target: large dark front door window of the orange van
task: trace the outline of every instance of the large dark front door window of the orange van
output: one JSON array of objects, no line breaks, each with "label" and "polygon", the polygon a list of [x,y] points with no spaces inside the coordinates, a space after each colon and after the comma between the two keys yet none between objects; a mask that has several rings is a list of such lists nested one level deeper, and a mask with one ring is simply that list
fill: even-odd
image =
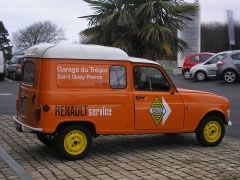
[{"label": "large dark front door window of the orange van", "polygon": [[170,85],[159,69],[138,66],[134,68],[134,88],[144,91],[168,91]]}]

